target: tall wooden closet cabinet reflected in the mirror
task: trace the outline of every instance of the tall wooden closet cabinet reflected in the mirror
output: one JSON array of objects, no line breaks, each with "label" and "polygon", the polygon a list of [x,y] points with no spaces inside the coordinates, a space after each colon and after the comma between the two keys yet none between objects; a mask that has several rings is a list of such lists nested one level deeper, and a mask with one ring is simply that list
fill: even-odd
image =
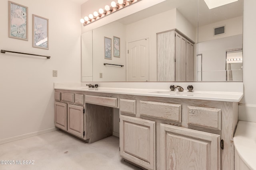
[{"label": "tall wooden closet cabinet reflected in the mirror", "polygon": [[157,80],[195,81],[194,44],[176,30],[157,33]]}]

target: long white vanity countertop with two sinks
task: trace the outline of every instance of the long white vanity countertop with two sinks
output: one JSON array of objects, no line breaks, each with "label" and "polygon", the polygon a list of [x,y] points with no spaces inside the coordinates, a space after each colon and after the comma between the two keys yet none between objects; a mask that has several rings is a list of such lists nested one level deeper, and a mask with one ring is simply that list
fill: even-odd
[{"label": "long white vanity countertop with two sinks", "polygon": [[164,98],[184,98],[184,99],[198,99],[198,100],[213,100],[223,102],[240,102],[243,97],[241,92],[209,92],[209,91],[194,91],[188,92],[170,92],[170,90],[156,90],[156,89],[136,89],[136,88],[88,88],[84,86],[54,86],[54,89],[60,90],[76,90],[85,92],[101,92],[113,94],[130,94],[138,96],[153,96]]}]

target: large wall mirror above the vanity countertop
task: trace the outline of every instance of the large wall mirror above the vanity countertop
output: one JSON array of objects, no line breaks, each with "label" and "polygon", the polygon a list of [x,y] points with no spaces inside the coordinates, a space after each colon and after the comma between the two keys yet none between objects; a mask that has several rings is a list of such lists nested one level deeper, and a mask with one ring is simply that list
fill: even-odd
[{"label": "large wall mirror above the vanity countertop", "polygon": [[243,2],[206,2],[165,0],[83,33],[82,82],[241,82]]}]

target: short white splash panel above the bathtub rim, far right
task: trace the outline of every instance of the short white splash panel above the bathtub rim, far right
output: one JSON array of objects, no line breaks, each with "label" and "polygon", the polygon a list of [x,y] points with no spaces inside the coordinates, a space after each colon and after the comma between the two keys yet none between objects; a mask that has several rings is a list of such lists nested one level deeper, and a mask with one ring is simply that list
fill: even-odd
[{"label": "short white splash panel above the bathtub rim, far right", "polygon": [[256,122],[256,105],[239,104],[239,120]]}]

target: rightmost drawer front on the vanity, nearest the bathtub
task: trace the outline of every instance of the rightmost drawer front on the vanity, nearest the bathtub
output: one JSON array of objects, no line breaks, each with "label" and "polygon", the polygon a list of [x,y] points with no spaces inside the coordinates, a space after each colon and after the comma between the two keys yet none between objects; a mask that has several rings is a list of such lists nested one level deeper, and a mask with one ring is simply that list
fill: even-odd
[{"label": "rightmost drawer front on the vanity, nearest the bathtub", "polygon": [[221,130],[221,110],[188,106],[188,124]]}]

